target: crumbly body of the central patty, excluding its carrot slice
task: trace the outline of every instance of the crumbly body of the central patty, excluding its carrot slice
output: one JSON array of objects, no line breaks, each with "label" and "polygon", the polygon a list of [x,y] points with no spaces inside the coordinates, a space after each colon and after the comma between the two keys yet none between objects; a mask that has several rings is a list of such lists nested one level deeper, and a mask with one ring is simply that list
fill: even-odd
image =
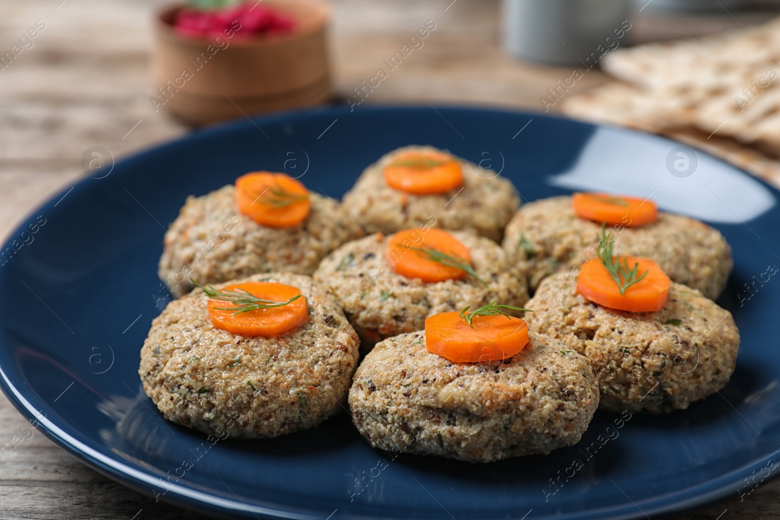
[{"label": "crumbly body of the central patty, excluding its carrot slice", "polygon": [[[322,260],[314,280],[331,288],[364,349],[383,338],[423,329],[425,318],[435,313],[468,305],[476,309],[493,300],[523,306],[528,299],[525,277],[509,266],[501,247],[473,232],[452,235],[469,249],[473,269],[488,287],[471,276],[424,283],[396,274],[385,256],[388,237],[380,233],[336,249]],[[420,236],[424,244],[424,232],[420,231]]]}]

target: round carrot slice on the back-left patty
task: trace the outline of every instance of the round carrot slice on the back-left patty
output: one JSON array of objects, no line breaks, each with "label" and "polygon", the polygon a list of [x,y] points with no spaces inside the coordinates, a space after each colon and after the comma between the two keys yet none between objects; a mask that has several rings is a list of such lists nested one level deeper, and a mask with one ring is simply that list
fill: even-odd
[{"label": "round carrot slice on the back-left patty", "polygon": [[309,216],[309,190],[282,173],[252,172],[236,179],[239,211],[269,228],[290,228]]}]

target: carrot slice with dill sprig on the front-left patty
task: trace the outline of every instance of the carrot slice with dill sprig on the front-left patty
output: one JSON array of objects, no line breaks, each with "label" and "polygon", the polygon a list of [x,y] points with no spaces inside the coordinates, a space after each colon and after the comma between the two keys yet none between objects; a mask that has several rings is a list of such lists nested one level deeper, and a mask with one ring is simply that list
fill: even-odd
[{"label": "carrot slice with dill sprig on the front-left patty", "polygon": [[[245,281],[219,290],[205,287],[204,292],[209,296],[211,323],[231,334],[275,338],[300,327],[309,317],[306,299],[291,285]],[[254,300],[261,300],[254,306],[265,308],[252,308]]]}]

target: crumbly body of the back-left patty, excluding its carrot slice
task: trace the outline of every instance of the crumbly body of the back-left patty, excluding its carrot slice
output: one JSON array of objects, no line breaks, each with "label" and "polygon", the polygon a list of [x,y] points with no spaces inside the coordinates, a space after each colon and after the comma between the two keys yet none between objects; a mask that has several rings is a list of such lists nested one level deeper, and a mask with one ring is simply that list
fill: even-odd
[{"label": "crumbly body of the back-left patty, excluding its carrot slice", "polygon": [[312,274],[342,243],[363,235],[335,202],[310,193],[310,214],[292,228],[268,228],[240,214],[233,185],[189,196],[165,233],[159,275],[173,295],[194,285],[289,271]]}]

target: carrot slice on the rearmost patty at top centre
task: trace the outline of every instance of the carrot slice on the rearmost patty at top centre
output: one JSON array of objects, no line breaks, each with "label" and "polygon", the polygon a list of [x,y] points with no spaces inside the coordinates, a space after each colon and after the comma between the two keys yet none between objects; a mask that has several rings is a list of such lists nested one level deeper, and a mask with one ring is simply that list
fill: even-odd
[{"label": "carrot slice on the rearmost patty at top centre", "polygon": [[459,161],[441,152],[408,152],[396,155],[385,166],[385,182],[412,195],[438,195],[463,186]]}]

